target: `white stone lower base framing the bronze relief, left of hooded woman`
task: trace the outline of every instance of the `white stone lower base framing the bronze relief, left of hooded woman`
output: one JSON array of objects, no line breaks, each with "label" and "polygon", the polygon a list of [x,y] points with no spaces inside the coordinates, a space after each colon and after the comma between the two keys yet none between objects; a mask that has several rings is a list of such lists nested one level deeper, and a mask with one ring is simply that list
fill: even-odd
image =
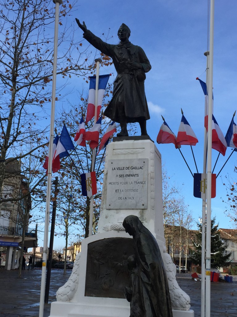
[{"label": "white stone lower base framing the bronze relief, left of hooded woman", "polygon": [[[88,244],[109,238],[130,238],[125,231],[104,232],[90,236],[82,241],[82,251],[69,281],[63,288],[59,288],[57,299],[63,301],[52,302],[50,317],[125,317],[130,315],[130,305],[123,298],[90,297],[85,296],[87,249]],[[74,268],[73,268],[74,270]],[[76,286],[76,289],[74,288]],[[108,290],[108,296],[109,296]],[[69,300],[65,302],[64,300]]]}]

